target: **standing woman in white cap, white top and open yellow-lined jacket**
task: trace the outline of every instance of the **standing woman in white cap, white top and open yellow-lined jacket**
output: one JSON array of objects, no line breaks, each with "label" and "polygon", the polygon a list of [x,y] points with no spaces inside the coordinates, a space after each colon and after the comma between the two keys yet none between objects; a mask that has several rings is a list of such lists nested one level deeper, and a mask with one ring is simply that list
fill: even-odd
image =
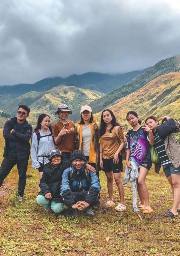
[{"label": "standing woman in white cap, white top and open yellow-lined jacket", "polygon": [[[75,127],[76,150],[82,150],[86,160],[96,169],[99,178],[100,167],[100,150],[99,150],[99,130],[100,125],[95,122],[92,109],[90,106],[82,106],[80,110],[80,121]],[[94,206],[96,209],[99,206]]]}]

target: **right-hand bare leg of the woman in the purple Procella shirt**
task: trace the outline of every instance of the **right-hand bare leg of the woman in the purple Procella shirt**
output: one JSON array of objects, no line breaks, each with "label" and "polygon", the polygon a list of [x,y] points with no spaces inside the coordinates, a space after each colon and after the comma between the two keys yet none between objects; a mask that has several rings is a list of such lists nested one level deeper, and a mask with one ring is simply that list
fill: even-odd
[{"label": "right-hand bare leg of the woman in the purple Procella shirt", "polygon": [[[148,188],[145,184],[145,178],[147,176],[148,170],[144,167],[140,167],[139,169],[139,177],[138,177],[138,186],[137,186],[137,192],[139,194],[141,203],[145,201],[145,206],[150,206],[149,203],[149,192]],[[141,192],[138,191],[140,188]],[[144,204],[144,203],[142,203]]]}]

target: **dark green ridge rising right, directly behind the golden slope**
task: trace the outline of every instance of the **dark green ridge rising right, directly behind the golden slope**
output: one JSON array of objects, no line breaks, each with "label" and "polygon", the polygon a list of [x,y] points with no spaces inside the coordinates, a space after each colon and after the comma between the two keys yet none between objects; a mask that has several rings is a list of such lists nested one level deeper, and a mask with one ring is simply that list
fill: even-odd
[{"label": "dark green ridge rising right, directly behind the golden slope", "polygon": [[[113,90],[106,96],[98,99],[90,104],[94,113],[107,108],[110,105],[115,104],[115,101],[129,95],[132,92],[142,88],[145,84],[152,81],[154,78],[167,74],[169,72],[177,72],[180,70],[180,55],[167,58],[165,60],[159,61],[156,65],[149,68],[144,73],[136,76],[128,84]],[[72,120],[76,122],[79,118],[79,109],[74,110]]]}]

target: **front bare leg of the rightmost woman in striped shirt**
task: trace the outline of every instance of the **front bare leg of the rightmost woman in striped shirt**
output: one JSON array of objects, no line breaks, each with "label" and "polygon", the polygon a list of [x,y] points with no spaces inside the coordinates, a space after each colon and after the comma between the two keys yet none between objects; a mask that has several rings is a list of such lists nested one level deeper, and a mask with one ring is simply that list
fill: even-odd
[{"label": "front bare leg of the rightmost woman in striped shirt", "polygon": [[172,178],[172,183],[174,188],[174,203],[173,203],[173,208],[171,212],[174,215],[177,215],[178,214],[177,209],[180,202],[180,174],[171,173],[171,178]]}]

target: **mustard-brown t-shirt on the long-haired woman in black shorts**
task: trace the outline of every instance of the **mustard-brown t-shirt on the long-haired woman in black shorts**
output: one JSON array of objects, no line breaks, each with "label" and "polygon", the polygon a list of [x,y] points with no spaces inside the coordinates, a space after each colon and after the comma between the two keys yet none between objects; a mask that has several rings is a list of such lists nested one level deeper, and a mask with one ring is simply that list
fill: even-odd
[{"label": "mustard-brown t-shirt on the long-haired woman in black shorts", "polygon": [[111,133],[106,128],[105,134],[101,136],[103,158],[110,159],[114,157],[116,151],[120,146],[119,139],[124,138],[121,127],[118,128],[118,132],[119,132],[119,138],[116,136],[115,127],[113,127],[113,130]]}]

